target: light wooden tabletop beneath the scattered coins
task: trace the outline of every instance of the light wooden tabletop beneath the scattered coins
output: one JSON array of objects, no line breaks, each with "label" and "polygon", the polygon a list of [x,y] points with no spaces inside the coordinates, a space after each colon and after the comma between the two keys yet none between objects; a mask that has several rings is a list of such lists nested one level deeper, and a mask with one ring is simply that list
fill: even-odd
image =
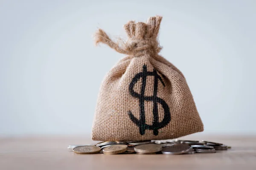
[{"label": "light wooden tabletop beneath the scattered coins", "polygon": [[185,136],[187,140],[210,140],[232,146],[217,153],[192,155],[80,155],[69,144],[95,143],[81,137],[0,138],[0,170],[256,170],[256,136]]}]

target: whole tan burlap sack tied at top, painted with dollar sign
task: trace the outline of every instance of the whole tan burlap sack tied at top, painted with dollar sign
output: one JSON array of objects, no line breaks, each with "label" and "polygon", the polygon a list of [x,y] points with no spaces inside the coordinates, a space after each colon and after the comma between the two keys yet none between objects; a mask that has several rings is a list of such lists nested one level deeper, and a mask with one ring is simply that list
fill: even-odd
[{"label": "whole tan burlap sack tied at top, painted with dollar sign", "polygon": [[129,21],[129,40],[113,42],[101,29],[96,44],[128,54],[102,82],[92,128],[99,141],[173,139],[204,130],[183,74],[158,53],[162,17]]}]

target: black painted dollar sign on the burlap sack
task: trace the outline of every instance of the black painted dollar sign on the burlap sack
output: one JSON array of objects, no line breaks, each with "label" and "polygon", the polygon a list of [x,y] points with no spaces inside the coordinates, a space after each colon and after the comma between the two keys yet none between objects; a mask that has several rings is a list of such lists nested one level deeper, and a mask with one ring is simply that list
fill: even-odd
[{"label": "black painted dollar sign on the burlap sack", "polygon": [[[146,81],[148,76],[154,76],[154,92],[153,96],[144,96],[145,94],[145,87],[146,87]],[[140,94],[134,91],[134,85],[142,78],[142,85],[141,85],[141,91]],[[163,79],[157,74],[157,71],[154,69],[152,72],[147,71],[147,66],[143,65],[143,72],[140,72],[134,76],[134,78],[131,80],[131,83],[129,85],[129,92],[131,96],[134,96],[135,98],[139,99],[140,102],[140,119],[137,119],[131,111],[128,112],[129,117],[132,122],[134,122],[135,125],[137,125],[140,128],[140,134],[144,135],[145,130],[153,130],[153,133],[155,136],[158,135],[158,130],[160,128],[165,127],[168,125],[168,123],[171,121],[171,114],[170,109],[167,103],[157,97],[157,88],[158,88],[158,80],[163,84],[165,87],[165,84],[163,82]],[[152,101],[153,102],[153,116],[154,120],[152,122],[152,125],[147,125],[145,120],[145,101]],[[164,110],[164,118],[162,122],[159,122],[159,116],[158,116],[158,107],[157,103],[161,104]]]}]

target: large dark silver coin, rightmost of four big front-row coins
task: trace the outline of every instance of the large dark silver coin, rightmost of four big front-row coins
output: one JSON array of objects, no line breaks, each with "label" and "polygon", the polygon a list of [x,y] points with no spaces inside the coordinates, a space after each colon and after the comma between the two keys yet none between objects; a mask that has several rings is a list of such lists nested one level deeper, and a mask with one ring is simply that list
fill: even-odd
[{"label": "large dark silver coin, rightmost of four big front-row coins", "polygon": [[177,155],[177,154],[183,154],[189,152],[191,147],[189,145],[172,145],[169,147],[165,147],[162,150],[163,154],[172,154],[172,155]]}]

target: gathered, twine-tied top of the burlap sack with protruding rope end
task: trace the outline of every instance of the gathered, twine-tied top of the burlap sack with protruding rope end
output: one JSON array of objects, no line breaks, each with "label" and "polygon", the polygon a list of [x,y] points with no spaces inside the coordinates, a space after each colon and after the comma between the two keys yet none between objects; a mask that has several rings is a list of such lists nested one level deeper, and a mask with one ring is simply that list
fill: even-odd
[{"label": "gathered, twine-tied top of the burlap sack with protruding rope end", "polygon": [[129,21],[124,25],[129,37],[126,42],[113,42],[110,37],[99,29],[95,34],[96,45],[100,42],[108,45],[119,53],[140,56],[154,56],[162,49],[157,41],[162,17],[150,17],[147,23]]}]

